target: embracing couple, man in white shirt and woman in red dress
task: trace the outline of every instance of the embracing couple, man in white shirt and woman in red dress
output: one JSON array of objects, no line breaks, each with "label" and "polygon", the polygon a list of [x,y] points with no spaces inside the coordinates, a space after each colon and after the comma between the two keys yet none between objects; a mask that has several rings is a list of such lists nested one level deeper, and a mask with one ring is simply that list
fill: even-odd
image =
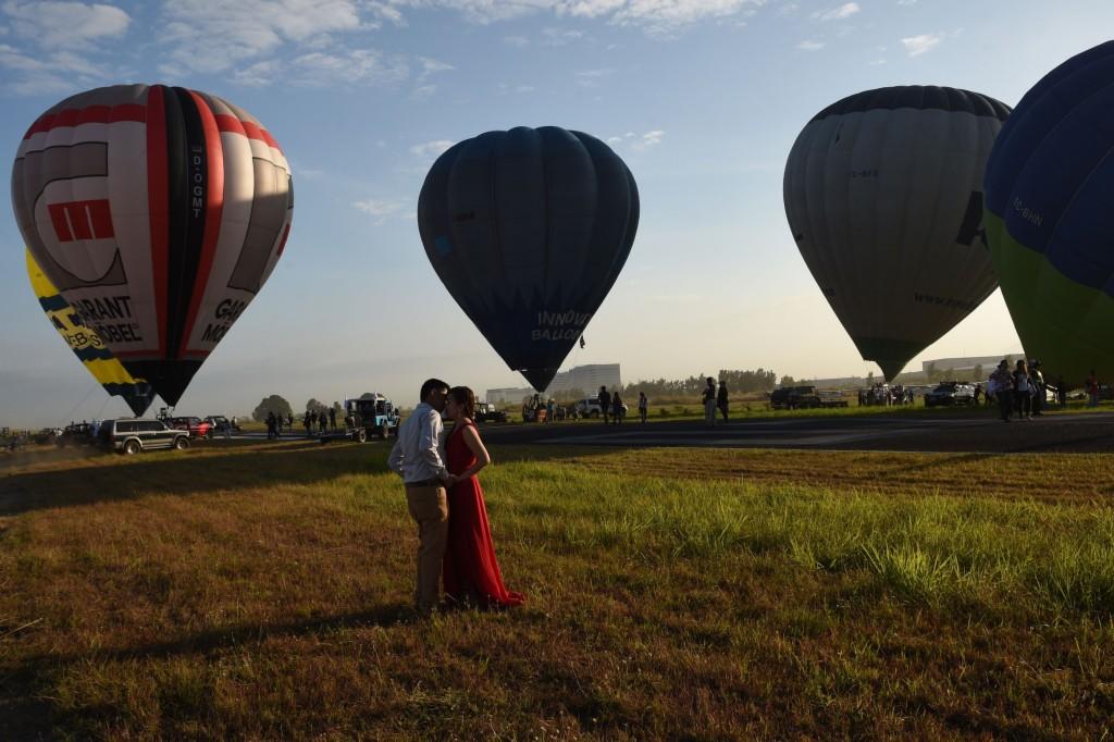
[{"label": "embracing couple, man in white shirt and woman in red dress", "polygon": [[[441,413],[455,422],[444,441]],[[502,584],[476,475],[491,462],[473,422],[476,396],[468,387],[430,379],[421,403],[399,427],[388,466],[402,477],[410,515],[418,523],[419,615],[438,609],[444,575],[448,605],[499,608],[520,605],[521,593]]]}]

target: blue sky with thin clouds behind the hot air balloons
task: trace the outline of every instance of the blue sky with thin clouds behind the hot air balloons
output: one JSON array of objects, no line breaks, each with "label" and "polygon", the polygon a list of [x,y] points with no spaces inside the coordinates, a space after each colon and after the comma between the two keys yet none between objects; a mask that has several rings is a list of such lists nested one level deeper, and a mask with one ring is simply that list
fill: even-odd
[{"label": "blue sky with thin clouds behind the hot air balloons", "polygon": [[[525,387],[438,281],[418,193],[452,143],[555,125],[626,162],[631,257],[566,367],[625,382],[719,369],[830,378],[861,360],[785,222],[785,158],[850,94],[945,85],[1015,106],[1105,41],[1110,0],[172,0],[0,2],[0,143],[84,89],[164,82],[251,111],[294,176],[282,260],[179,413],[295,410],[428,377]],[[10,204],[3,178],[4,204]],[[42,315],[0,217],[0,426],[128,414]],[[1016,352],[999,292],[913,359]],[[153,409],[154,411],[154,409]]]}]

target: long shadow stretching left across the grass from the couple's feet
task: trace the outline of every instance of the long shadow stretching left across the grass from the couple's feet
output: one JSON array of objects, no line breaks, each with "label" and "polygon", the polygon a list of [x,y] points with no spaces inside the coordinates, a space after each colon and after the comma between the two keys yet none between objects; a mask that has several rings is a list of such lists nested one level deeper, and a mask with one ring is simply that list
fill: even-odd
[{"label": "long shadow stretching left across the grass from the couple's feet", "polygon": [[[0,739],[56,739],[66,717],[75,713],[61,710],[50,695],[51,681],[72,665],[86,663],[166,660],[184,655],[208,655],[226,648],[258,645],[270,638],[329,634],[364,626],[408,626],[420,624],[414,612],[404,604],[383,604],[340,616],[311,618],[281,624],[229,626],[168,642],[145,644],[79,654],[40,654],[18,663],[0,663]],[[82,716],[119,713],[118,709],[82,709]]]}]

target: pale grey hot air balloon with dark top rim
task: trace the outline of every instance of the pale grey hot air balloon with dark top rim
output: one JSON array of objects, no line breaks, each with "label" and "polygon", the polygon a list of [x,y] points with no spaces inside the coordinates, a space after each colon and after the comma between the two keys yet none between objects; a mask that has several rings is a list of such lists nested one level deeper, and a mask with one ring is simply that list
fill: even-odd
[{"label": "pale grey hot air balloon with dark top rim", "polygon": [[820,111],[785,165],[801,255],[864,360],[892,379],[997,285],[983,170],[1009,115],[955,88],[867,90]]}]

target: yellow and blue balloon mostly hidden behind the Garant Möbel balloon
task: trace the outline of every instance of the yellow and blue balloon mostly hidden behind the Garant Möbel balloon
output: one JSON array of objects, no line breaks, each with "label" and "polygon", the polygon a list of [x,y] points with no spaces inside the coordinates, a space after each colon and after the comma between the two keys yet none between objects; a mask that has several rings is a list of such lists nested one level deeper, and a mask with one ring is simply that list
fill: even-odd
[{"label": "yellow and blue balloon mostly hidden behind the Garant M\u00f6bel balloon", "polygon": [[31,290],[51,326],[58,331],[77,359],[106,392],[121,398],[137,417],[146,412],[154,399],[150,384],[143,379],[133,378],[127,369],[120,365],[100,336],[85,325],[77,311],[58,293],[50,279],[43,275],[31,251],[25,252]]}]

